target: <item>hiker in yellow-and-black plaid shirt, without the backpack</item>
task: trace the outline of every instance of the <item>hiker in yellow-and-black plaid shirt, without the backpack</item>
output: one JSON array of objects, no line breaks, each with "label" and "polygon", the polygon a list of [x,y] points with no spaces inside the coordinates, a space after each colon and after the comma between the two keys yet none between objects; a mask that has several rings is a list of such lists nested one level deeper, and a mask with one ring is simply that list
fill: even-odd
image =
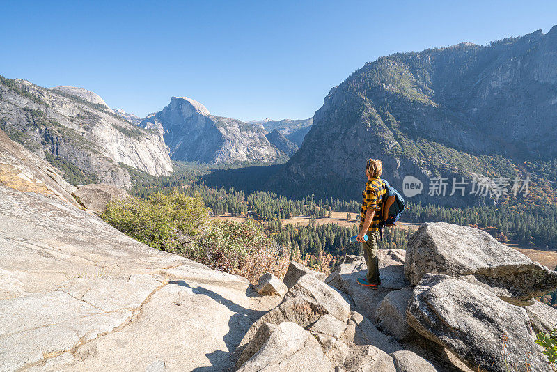
[{"label": "hiker in yellow-and-black plaid shirt, without the backpack", "polygon": [[[383,163],[379,159],[368,159],[366,176],[368,182],[362,193],[360,233],[356,238],[361,242],[363,257],[366,258],[368,273],[365,278],[357,279],[358,284],[377,289],[381,284],[379,263],[377,262],[377,235],[382,222],[381,206],[386,197],[387,187],[381,180]],[[363,240],[368,235],[368,240]]]}]

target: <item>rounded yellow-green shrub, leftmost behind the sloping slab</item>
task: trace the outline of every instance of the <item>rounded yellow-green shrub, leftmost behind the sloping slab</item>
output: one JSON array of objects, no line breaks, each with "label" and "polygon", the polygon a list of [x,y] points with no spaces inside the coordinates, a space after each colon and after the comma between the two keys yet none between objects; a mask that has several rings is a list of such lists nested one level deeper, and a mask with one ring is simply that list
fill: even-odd
[{"label": "rounded yellow-green shrub, leftmost behind the sloping slab", "polygon": [[102,219],[132,238],[162,251],[175,251],[194,241],[207,220],[203,199],[176,191],[111,201]]}]

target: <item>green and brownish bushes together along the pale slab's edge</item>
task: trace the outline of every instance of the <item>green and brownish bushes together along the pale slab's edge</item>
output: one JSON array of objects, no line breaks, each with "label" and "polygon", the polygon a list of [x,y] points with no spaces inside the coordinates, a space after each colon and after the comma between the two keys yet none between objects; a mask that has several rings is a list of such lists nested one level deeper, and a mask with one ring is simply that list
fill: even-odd
[{"label": "green and brownish bushes together along the pale slab's edge", "polygon": [[111,201],[101,217],[126,235],[162,251],[174,252],[210,268],[242,275],[256,284],[261,274],[283,278],[290,251],[254,222],[209,221],[203,199],[158,193],[148,200]]}]

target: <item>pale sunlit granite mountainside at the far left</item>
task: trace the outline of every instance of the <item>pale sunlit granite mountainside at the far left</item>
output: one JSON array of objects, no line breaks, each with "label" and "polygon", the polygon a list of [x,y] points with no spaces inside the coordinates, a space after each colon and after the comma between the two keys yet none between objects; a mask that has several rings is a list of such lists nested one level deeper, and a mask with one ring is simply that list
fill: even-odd
[{"label": "pale sunlit granite mountainside at the far left", "polygon": [[74,184],[129,187],[135,169],[152,176],[173,170],[161,135],[123,120],[82,88],[0,77],[0,128]]}]

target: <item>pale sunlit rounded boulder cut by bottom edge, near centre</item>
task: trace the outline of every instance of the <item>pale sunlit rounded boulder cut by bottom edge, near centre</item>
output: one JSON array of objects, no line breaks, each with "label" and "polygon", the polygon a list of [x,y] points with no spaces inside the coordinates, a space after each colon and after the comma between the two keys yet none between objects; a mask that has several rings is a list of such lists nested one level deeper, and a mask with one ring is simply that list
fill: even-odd
[{"label": "pale sunlit rounded boulder cut by bottom edge, near centre", "polygon": [[238,372],[329,371],[331,364],[317,339],[292,322],[276,326],[253,357]]}]

